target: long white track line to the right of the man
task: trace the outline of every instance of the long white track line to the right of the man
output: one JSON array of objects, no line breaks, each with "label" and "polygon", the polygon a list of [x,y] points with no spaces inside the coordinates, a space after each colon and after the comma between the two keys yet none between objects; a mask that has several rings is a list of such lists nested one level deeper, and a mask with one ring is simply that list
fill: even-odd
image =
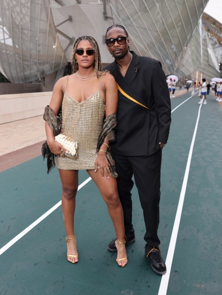
[{"label": "long white track line to the right of the man", "polygon": [[193,138],[192,138],[191,145],[190,145],[190,151],[189,151],[188,160],[186,163],[186,170],[185,170],[183,184],[182,184],[182,188],[181,188],[181,192],[180,192],[180,198],[179,198],[179,203],[178,203],[178,207],[177,207],[176,217],[174,220],[170,244],[169,244],[169,248],[168,248],[168,252],[167,252],[167,258],[166,258],[167,272],[166,272],[166,274],[164,274],[162,276],[158,295],[166,295],[166,293],[167,293],[167,287],[168,287],[168,283],[169,283],[173,255],[174,255],[174,250],[175,250],[175,246],[176,246],[177,234],[178,234],[181,213],[182,213],[182,208],[183,208],[183,201],[184,201],[184,197],[185,197],[185,193],[186,193],[187,180],[188,180],[188,176],[189,176],[190,163],[191,163],[193,146],[194,146],[194,141],[195,141],[195,137],[196,137],[196,131],[197,131],[197,127],[198,127],[199,117],[200,117],[201,106],[202,106],[202,103],[200,103],[199,110],[198,110],[196,125],[195,125],[195,129],[193,132]]}]

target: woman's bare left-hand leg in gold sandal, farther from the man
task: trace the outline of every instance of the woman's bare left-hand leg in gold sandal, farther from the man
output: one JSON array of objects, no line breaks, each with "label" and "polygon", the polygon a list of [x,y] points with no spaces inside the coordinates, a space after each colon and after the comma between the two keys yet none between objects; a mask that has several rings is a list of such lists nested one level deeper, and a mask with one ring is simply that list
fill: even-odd
[{"label": "woman's bare left-hand leg in gold sandal, farther from the man", "polygon": [[[78,189],[78,171],[61,170],[59,174],[62,182],[62,212],[65,231],[67,235],[67,255],[78,256],[74,236],[75,197]],[[67,257],[68,261],[75,263],[78,257]]]}]

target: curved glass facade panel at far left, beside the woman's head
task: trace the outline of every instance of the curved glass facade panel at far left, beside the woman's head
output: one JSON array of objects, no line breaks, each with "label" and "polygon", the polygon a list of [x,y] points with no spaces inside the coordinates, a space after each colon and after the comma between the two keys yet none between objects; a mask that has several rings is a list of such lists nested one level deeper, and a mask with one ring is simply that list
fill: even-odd
[{"label": "curved glass facade panel at far left, beside the woman's head", "polygon": [[1,0],[0,17],[0,63],[11,82],[31,82],[67,64],[48,0]]}]

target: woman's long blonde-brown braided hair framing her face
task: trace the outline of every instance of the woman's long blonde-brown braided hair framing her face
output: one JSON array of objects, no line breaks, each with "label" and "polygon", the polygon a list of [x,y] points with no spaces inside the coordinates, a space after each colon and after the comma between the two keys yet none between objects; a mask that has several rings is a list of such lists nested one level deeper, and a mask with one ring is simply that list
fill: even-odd
[{"label": "woman's long blonde-brown braided hair framing her face", "polygon": [[93,67],[95,69],[95,74],[96,74],[96,77],[98,78],[100,76],[100,74],[98,74],[98,71],[101,71],[101,57],[100,57],[100,52],[99,52],[99,48],[98,48],[98,44],[97,42],[95,41],[95,39],[91,36],[81,36],[79,37],[74,45],[73,45],[73,51],[72,51],[72,59],[71,59],[71,65],[72,65],[72,74],[77,72],[78,71],[78,63],[75,59],[75,51],[76,51],[76,48],[79,44],[80,41],[82,40],[87,40],[90,42],[92,48],[94,49],[95,51],[95,60],[93,62]]}]

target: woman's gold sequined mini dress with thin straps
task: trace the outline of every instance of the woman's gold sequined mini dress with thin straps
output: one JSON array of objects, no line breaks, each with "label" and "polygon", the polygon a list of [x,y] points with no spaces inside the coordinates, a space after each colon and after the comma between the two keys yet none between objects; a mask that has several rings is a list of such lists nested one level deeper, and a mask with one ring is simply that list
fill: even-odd
[{"label": "woman's gold sequined mini dress with thin straps", "polygon": [[[100,87],[83,102],[70,97],[66,91],[62,102],[62,129],[78,142],[78,155],[75,159],[56,156],[56,165],[62,170],[92,170],[95,168],[96,146],[101,132],[105,105],[102,102]],[[67,78],[68,82],[68,78]]]}]

